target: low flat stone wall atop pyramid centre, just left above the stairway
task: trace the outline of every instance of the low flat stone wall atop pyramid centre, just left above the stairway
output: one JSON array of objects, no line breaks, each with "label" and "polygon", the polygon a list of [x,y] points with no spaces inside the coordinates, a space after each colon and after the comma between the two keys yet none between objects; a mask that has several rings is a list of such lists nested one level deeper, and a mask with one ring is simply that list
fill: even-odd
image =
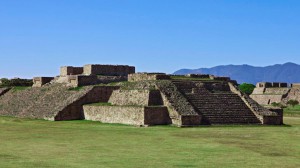
[{"label": "low flat stone wall atop pyramid centre, just left above the stairway", "polygon": [[169,80],[170,76],[164,73],[135,73],[128,75],[129,82],[147,81],[147,80]]}]

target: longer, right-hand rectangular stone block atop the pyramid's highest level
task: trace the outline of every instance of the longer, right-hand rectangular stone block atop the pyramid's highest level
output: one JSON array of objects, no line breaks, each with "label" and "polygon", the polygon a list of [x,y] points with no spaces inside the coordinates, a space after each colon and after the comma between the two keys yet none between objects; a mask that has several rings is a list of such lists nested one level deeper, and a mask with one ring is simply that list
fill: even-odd
[{"label": "longer, right-hand rectangular stone block atop the pyramid's highest level", "polygon": [[131,73],[135,73],[134,66],[88,64],[83,67],[84,75],[127,76]]}]

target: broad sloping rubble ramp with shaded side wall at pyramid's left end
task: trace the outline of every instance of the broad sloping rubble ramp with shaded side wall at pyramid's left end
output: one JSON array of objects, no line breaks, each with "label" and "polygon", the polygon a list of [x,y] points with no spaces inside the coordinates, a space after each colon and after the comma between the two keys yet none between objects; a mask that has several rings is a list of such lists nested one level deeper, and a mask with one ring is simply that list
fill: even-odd
[{"label": "broad sloping rubble ramp with shaded side wall at pyramid's left end", "polygon": [[[61,84],[11,90],[0,97],[0,115],[48,120],[83,119],[82,105],[108,99],[113,88],[86,86],[70,90]],[[97,93],[105,92],[102,97]]]}]

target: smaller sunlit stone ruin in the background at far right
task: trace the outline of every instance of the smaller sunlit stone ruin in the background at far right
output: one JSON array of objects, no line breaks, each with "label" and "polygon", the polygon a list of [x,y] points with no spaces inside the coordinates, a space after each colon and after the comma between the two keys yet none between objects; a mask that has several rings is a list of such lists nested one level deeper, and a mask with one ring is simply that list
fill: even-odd
[{"label": "smaller sunlit stone ruin in the background at far right", "polygon": [[300,102],[300,83],[259,82],[250,97],[261,105],[286,104],[289,100]]}]

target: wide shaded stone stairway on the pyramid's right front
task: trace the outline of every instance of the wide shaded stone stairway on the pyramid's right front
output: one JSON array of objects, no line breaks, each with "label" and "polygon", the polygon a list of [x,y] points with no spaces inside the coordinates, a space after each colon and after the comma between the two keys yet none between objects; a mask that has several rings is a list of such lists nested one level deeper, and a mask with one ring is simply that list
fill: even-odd
[{"label": "wide shaded stone stairway on the pyramid's right front", "polygon": [[[179,91],[203,116],[206,124],[260,124],[245,102],[228,84],[173,80]],[[221,87],[220,87],[221,85]]]}]

